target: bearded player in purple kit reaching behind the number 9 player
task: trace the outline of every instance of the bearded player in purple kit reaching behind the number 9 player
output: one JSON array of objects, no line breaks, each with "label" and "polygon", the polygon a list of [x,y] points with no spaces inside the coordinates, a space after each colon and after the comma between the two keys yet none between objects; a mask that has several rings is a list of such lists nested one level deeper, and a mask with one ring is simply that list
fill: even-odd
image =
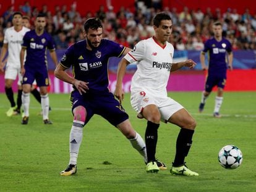
[{"label": "bearded player in purple kit reaching behind the number 9 player", "polygon": [[[103,25],[98,18],[90,18],[84,25],[85,40],[79,41],[67,49],[58,66],[55,76],[74,87],[70,95],[74,120],[70,130],[70,161],[61,175],[68,176],[77,172],[77,157],[83,138],[83,127],[94,114],[101,115],[111,125],[117,127],[126,136],[132,146],[147,162],[147,152],[142,137],[130,124],[129,116],[121,104],[108,90],[109,57],[121,57],[129,48],[103,38]],[[74,77],[65,70],[72,67]],[[165,165],[158,161],[164,169]]]}]

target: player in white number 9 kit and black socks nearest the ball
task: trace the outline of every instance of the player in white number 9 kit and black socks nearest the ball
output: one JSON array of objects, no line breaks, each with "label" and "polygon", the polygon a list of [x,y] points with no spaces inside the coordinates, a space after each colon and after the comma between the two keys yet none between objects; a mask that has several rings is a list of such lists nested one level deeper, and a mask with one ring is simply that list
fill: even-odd
[{"label": "player in white number 9 kit and black socks nearest the ball", "polygon": [[166,85],[170,72],[181,67],[193,68],[195,62],[187,60],[173,63],[173,45],[168,43],[173,23],[168,14],[161,12],[153,19],[155,36],[139,41],[134,49],[126,54],[119,62],[117,70],[117,83],[115,96],[122,102],[122,79],[126,66],[132,62],[137,63],[137,71],[132,77],[130,102],[139,118],[147,120],[145,143],[147,148],[147,172],[158,172],[156,165],[156,143],[158,140],[158,127],[160,121],[173,123],[181,130],[176,141],[176,156],[171,174],[197,176],[198,173],[188,169],[184,159],[192,145],[196,122],[189,112],[178,102],[168,97]]}]

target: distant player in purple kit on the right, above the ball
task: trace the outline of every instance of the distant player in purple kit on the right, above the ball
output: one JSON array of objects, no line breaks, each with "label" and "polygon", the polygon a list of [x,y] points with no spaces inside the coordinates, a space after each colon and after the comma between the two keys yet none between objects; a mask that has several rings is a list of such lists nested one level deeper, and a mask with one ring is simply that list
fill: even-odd
[{"label": "distant player in purple kit on the right, above the ball", "polygon": [[[217,96],[215,98],[215,108],[213,117],[220,118],[220,107],[223,102],[223,89],[226,84],[227,69],[233,70],[233,52],[231,43],[222,36],[222,25],[220,22],[213,23],[214,37],[205,42],[205,48],[200,54],[202,69],[208,69],[205,90],[199,105],[199,112],[203,111],[205,100],[211,93],[214,86],[217,86]],[[205,65],[205,53],[208,52],[208,67]],[[228,53],[228,58],[227,58]],[[228,64],[227,64],[228,59]]]}]

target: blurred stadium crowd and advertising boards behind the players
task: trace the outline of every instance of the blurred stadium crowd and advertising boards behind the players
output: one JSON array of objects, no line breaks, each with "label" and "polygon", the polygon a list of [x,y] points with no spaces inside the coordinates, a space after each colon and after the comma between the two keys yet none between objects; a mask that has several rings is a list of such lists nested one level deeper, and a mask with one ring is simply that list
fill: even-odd
[{"label": "blurred stadium crowd and advertising boards behind the players", "polygon": [[[205,72],[199,61],[203,43],[211,37],[211,24],[223,23],[224,36],[231,41],[234,50],[234,70],[228,72],[226,91],[256,91],[256,7],[254,1],[1,1],[0,49],[4,30],[11,27],[12,13],[20,11],[30,17],[33,28],[35,15],[47,15],[46,30],[54,38],[58,59],[76,41],[82,40],[83,23],[89,17],[103,20],[105,38],[132,48],[139,40],[153,35],[151,19],[156,12],[168,12],[174,23],[171,43],[176,48],[174,59],[193,59],[194,70],[181,70],[171,75],[168,91],[202,91]],[[109,61],[109,88],[114,90],[119,59]],[[51,93],[69,93],[70,85],[54,78],[54,65],[48,56]],[[130,65],[124,79],[124,89],[129,92],[130,78],[136,69]],[[0,93],[4,93],[4,73],[0,72]],[[14,84],[15,85],[15,84]],[[14,90],[17,90],[14,88]]]}]

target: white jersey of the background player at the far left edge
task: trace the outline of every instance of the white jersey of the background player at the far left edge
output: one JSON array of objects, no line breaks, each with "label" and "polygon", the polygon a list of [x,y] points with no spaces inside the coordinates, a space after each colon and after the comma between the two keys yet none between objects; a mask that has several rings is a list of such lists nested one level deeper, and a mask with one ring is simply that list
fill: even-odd
[{"label": "white jersey of the background player at the far left edge", "polygon": [[22,30],[15,31],[14,27],[7,28],[4,33],[4,43],[8,44],[8,57],[7,65],[20,66],[20,50],[23,43],[23,36],[27,31],[30,31],[27,27],[22,27]]}]

